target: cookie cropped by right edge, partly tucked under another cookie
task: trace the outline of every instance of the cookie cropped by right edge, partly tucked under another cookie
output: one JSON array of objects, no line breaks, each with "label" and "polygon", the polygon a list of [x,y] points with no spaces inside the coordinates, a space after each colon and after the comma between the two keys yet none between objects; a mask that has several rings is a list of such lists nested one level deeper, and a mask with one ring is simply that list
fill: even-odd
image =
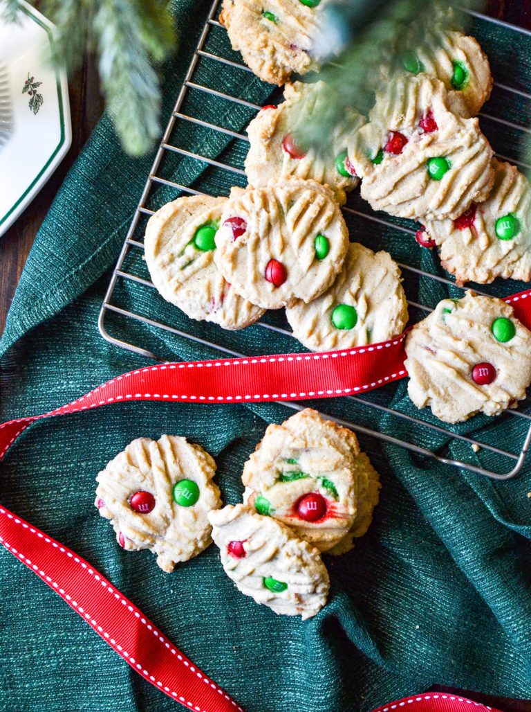
[{"label": "cookie cropped by right edge, partly tucked under another cookie", "polygon": [[423,229],[441,251],[458,285],[496,277],[531,280],[531,186],[510,163],[492,161],[494,185],[486,200],[455,220],[426,221]]}]

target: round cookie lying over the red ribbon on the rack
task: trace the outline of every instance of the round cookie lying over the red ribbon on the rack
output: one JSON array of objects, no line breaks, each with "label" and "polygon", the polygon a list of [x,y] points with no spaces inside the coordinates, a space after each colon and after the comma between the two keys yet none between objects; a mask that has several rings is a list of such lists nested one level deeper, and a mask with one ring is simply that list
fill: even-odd
[{"label": "round cookie lying over the red ribbon on the rack", "polygon": [[408,393],[447,423],[517,407],[531,383],[531,331],[501,299],[446,299],[409,331]]}]

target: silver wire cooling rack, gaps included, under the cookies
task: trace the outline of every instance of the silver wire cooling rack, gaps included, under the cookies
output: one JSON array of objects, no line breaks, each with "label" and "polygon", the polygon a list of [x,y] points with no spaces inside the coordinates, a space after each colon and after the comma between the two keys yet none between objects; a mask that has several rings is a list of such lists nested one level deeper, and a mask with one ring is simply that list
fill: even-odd
[{"label": "silver wire cooling rack, gaps included, under the cookies", "polygon": [[[224,332],[217,325],[193,322],[180,312],[175,320],[167,317],[167,311],[164,313],[166,316],[159,318],[158,313],[162,313],[159,309],[162,298],[149,279],[144,261],[139,258],[139,256],[143,256],[146,221],[163,203],[175,199],[181,194],[203,193],[202,180],[208,180],[209,186],[214,184],[218,188],[218,194],[228,194],[232,185],[245,186],[247,184],[242,164],[247,152],[248,140],[240,132],[241,130],[234,130],[235,123],[231,121],[231,117],[237,115],[240,120],[237,125],[241,125],[245,129],[245,125],[261,107],[245,98],[245,86],[250,81],[250,70],[242,64],[240,55],[232,52],[230,44],[226,40],[225,28],[222,28],[215,19],[219,9],[220,0],[215,0],[163,135],[151,173],[141,194],[139,206],[109,283],[98,321],[100,333],[104,339],[157,361],[167,361],[168,356],[151,351],[153,343],[159,343],[159,340],[154,338],[154,334],[172,335],[178,340],[195,342],[213,350],[214,357],[215,355],[230,355],[232,357],[249,355],[248,353],[242,354],[238,350],[238,333]],[[527,61],[531,63],[531,33],[482,14],[471,13],[471,15],[476,25],[480,25],[479,29],[483,28],[483,33],[486,33],[487,37],[496,36],[500,32],[516,33],[517,46],[529,43],[522,51],[528,50]],[[475,26],[473,33],[476,36],[478,35],[477,30],[478,27]],[[218,35],[222,33],[225,36],[225,45],[222,44],[223,38],[216,37],[215,33]],[[483,40],[480,41],[483,45]],[[220,43],[225,47],[225,51],[219,50]],[[215,46],[215,50],[213,50],[213,46]],[[505,43],[498,41],[488,48],[491,63],[492,54],[497,56],[499,51],[503,52],[503,46]],[[513,43],[511,51],[514,51],[514,46]],[[510,56],[508,67],[511,67],[513,61],[513,56]],[[228,75],[237,75],[241,79],[241,81],[235,80],[230,83],[232,93],[226,93],[226,90],[223,90],[223,84],[221,88],[218,85],[211,85],[215,84],[212,80],[213,66],[216,68],[214,75],[226,77],[228,73]],[[493,73],[496,78],[495,69],[493,69]],[[528,123],[531,122],[531,94],[525,91],[525,67],[520,85],[514,85],[519,81],[513,75],[512,70],[510,73],[512,77],[510,83],[495,81],[493,98],[480,114],[481,126],[495,148],[493,137],[495,138],[496,135],[499,137],[502,132],[503,151],[502,153],[497,152],[498,157],[516,163],[522,169],[531,169],[530,165],[517,160],[522,150],[522,140],[526,138],[526,134],[531,134],[531,130],[522,125],[521,120],[520,122],[513,121],[513,117],[520,119],[523,117],[524,121],[527,117]],[[205,80],[205,76],[210,78],[210,85],[209,80]],[[252,80],[255,82],[255,86],[260,84],[259,80],[254,78]],[[262,86],[266,87],[266,85]],[[237,93],[240,95],[236,95]],[[271,93],[270,88],[269,93]],[[265,90],[264,98],[267,98]],[[214,100],[227,106],[227,110],[221,112],[221,115],[219,112],[213,115],[210,110]],[[264,103],[271,103],[271,100],[264,101]],[[242,121],[243,117],[245,117],[245,121]],[[207,150],[207,146],[212,143],[207,141],[205,142],[205,155],[190,152],[186,149],[186,136],[189,135],[190,130],[193,130],[193,127],[206,130],[208,135],[222,140],[222,144],[220,145],[219,142],[216,144],[214,141],[217,150],[213,152]],[[184,145],[180,145],[183,140]],[[221,151],[220,146],[222,147]],[[215,157],[210,157],[209,152]],[[513,155],[505,155],[505,153]],[[172,179],[179,162],[188,164],[188,175],[191,179],[186,181],[187,184],[184,182],[181,184]],[[448,290],[451,295],[462,294],[454,281],[422,269],[422,264],[419,263],[419,261],[422,263],[422,248],[417,249],[416,243],[412,240],[416,227],[411,221],[401,221],[376,214],[368,204],[355,195],[350,198],[349,204],[343,208],[343,211],[349,224],[351,236],[354,223],[355,239],[359,239],[365,244],[371,243],[372,239],[372,243],[368,244],[372,248],[389,249],[389,246],[385,244],[385,239],[396,238],[399,235],[404,236],[403,243],[406,247],[395,248],[395,251],[391,251],[402,269],[406,293],[427,293],[427,299],[422,300],[425,303],[408,300],[409,312],[413,321],[417,321],[429,313],[440,298],[446,298]],[[363,235],[358,237],[356,233],[360,232],[363,232]],[[368,239],[364,239],[363,236]],[[393,244],[396,244],[396,239]],[[415,258],[412,258],[413,252]],[[429,285],[427,292],[425,288],[423,291],[419,286],[421,277],[427,281],[424,284]],[[437,288],[444,289],[444,292],[439,293],[438,297],[436,297]],[[124,296],[126,293],[130,294],[131,290],[139,290],[144,293],[139,295],[139,300],[135,302],[135,308],[129,306],[131,300]],[[517,291],[517,289],[508,290],[507,285],[504,286],[504,290],[506,294]],[[476,292],[486,293],[478,289]],[[142,306],[139,307],[139,304]],[[175,312],[178,312],[176,308]],[[272,352],[279,352],[300,350],[301,348],[291,334],[283,315],[279,315],[279,313],[268,313],[259,323],[247,327],[244,330],[245,333],[248,330],[254,330],[254,334],[257,335],[254,342],[259,343],[262,349],[272,347]],[[257,330],[261,330],[261,332]],[[121,333],[125,332],[128,336],[120,337]],[[130,336],[131,333],[134,333],[134,339]],[[356,419],[363,419],[365,422],[374,421],[375,417],[387,417],[386,433],[361,425],[359,422],[350,422],[343,417],[333,417],[326,412],[322,414],[338,424],[354,429],[363,436],[401,446],[420,456],[420,461],[423,458],[435,459],[441,463],[465,468],[497,480],[512,478],[520,471],[531,443],[530,415],[522,410],[508,410],[495,419],[476,416],[476,419],[480,419],[477,425],[472,426],[472,428],[477,428],[476,433],[470,429],[470,424],[466,424],[465,428],[463,426],[449,428],[432,417],[427,409],[419,411],[417,417],[400,412],[399,406],[393,403],[396,385],[390,384],[388,387],[378,389],[377,394],[371,392],[342,399],[346,403],[347,412],[349,409],[351,410],[350,417],[356,414]],[[282,404],[294,410],[301,410],[304,407],[292,402],[282,402]],[[500,436],[500,433],[506,432],[507,428],[517,433],[519,449],[511,451],[498,446],[498,440],[503,439],[503,435]],[[389,434],[391,432],[396,436]],[[427,444],[429,445],[427,446]]]}]

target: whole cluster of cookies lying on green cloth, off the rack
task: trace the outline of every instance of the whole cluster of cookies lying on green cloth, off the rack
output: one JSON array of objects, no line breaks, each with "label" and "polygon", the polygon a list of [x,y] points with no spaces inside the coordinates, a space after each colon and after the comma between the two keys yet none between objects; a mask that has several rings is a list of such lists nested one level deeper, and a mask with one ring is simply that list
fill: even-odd
[{"label": "whole cluster of cookies lying on green cloth, off the rack", "polygon": [[267,429],[244,467],[245,503],[226,506],[213,458],[180,436],[139,438],[97,476],[95,506],[127,551],[171,572],[212,540],[238,589],[276,613],[314,616],[329,580],[321,553],[368,529],[380,481],[352,431],[306,409]]}]

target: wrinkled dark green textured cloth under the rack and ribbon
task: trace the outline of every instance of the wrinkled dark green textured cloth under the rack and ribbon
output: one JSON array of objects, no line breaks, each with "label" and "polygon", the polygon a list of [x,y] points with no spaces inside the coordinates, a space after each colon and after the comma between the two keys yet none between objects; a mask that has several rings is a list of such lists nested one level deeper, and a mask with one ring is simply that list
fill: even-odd
[{"label": "wrinkled dark green textured cloth under the rack and ribbon", "polygon": [[[175,3],[183,40],[166,68],[169,114],[208,11],[203,0]],[[531,61],[528,38],[496,36],[478,23],[476,35],[498,79],[525,87]],[[225,33],[213,47],[227,51]],[[215,47],[214,47],[215,48]],[[228,55],[227,55],[228,56]],[[211,86],[265,103],[269,88],[249,73],[204,63]],[[204,101],[198,94],[188,102]],[[491,106],[526,120],[517,98],[495,94]],[[527,113],[529,110],[527,110]],[[214,122],[242,130],[245,107],[213,103]],[[485,120],[495,149],[515,155],[518,134]],[[175,138],[189,150],[222,155],[240,165],[245,145],[179,125]],[[1,420],[41,413],[105,380],[146,364],[102,340],[97,315],[151,158],[132,160],[119,149],[104,118],[71,170],[38,234],[1,341]],[[179,182],[226,191],[227,182],[192,161],[168,166]],[[237,181],[242,182],[240,176]],[[228,179],[227,179],[228,180]],[[161,188],[152,204],[174,193]],[[353,198],[353,205],[359,197]],[[353,239],[387,247],[400,261],[440,273],[437,259],[405,236],[349,216]],[[145,275],[139,256],[128,268]],[[406,279],[410,298],[430,304],[447,295],[433,281]],[[523,288],[500,287],[504,293]],[[495,287],[494,290],[498,289]],[[152,290],[121,283],[116,303],[203,337],[220,339],[212,325],[191,323]],[[419,314],[412,314],[419,318]],[[281,315],[272,314],[273,323]],[[110,327],[109,327],[110,328]],[[149,347],[161,357],[215,356],[192,342],[126,322],[118,337]],[[272,340],[253,326],[222,335],[227,347],[247,353],[293,350],[291,340]],[[395,407],[419,416],[405,383]],[[371,395],[383,402],[385,392]],[[318,403],[395,436],[416,439],[441,452],[447,438],[345,399]],[[391,698],[431,684],[505,696],[531,697],[531,491],[530,464],[514,481],[494,483],[420,459],[395,446],[363,438],[381,473],[382,496],[368,534],[343,557],[325,557],[331,574],[328,605],[308,622],[277,617],[240,595],[225,577],[215,547],[166,575],[149,552],[127,554],[93,506],[98,471],[137,436],[183,434],[218,463],[225,502],[240,500],[240,473],[269,422],[281,422],[279,404],[252,407],[185,404],[121,404],[34,424],[0,466],[0,501],[76,550],[130,597],[186,654],[225,687],[247,712],[368,711]],[[430,419],[429,414],[422,417]],[[434,422],[432,420],[431,422]],[[476,431],[486,442],[517,446],[523,419],[476,418],[456,431]],[[457,442],[457,441],[456,441]],[[450,453],[469,456],[454,442]],[[493,456],[476,455],[478,464]],[[494,456],[495,458],[497,456]],[[487,459],[488,458],[488,459]],[[499,465],[500,463],[498,463]],[[17,712],[159,712],[171,701],[136,675],[60,598],[6,550],[0,550],[0,709]]]}]

